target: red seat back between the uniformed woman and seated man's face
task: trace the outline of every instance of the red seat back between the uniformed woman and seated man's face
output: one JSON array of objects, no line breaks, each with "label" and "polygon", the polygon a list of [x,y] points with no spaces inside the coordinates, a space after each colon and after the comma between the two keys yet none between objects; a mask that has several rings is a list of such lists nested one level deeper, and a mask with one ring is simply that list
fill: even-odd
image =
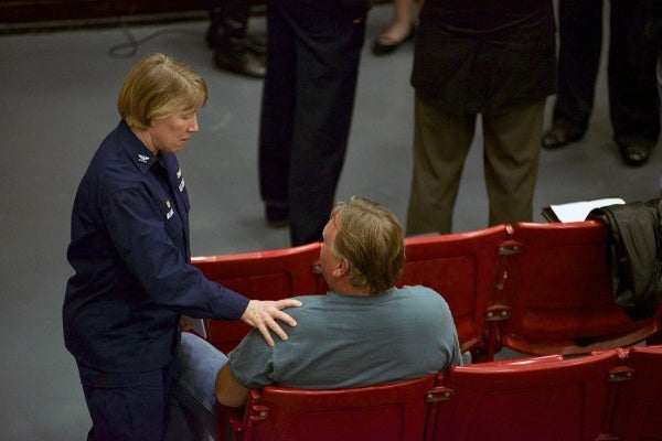
[{"label": "red seat back between the uniformed woman and seated man's face", "polygon": [[[322,276],[316,268],[320,244],[300,247],[194,257],[192,263],[213,281],[249,299],[280,300],[293,295],[325,292]],[[227,354],[250,331],[239,320],[207,321],[207,340]]]}]

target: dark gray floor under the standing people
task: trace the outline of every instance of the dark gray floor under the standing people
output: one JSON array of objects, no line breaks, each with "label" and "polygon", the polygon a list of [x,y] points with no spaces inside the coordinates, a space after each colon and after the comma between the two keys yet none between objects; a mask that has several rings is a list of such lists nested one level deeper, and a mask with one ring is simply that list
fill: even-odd
[{"label": "dark gray floor under the standing people", "polygon": [[[339,198],[364,195],[404,220],[410,179],[412,44],[388,57],[370,53],[388,6],[369,19],[356,109]],[[263,30],[264,21],[252,21]],[[1,322],[0,439],[82,440],[89,426],[73,358],[64,349],[60,309],[71,275],[65,259],[74,192],[93,151],[118,121],[124,75],[150,52],[199,71],[211,92],[201,132],[179,154],[193,203],[192,249],[211,255],[288,246],[265,227],[257,192],[256,140],[261,83],[215,71],[203,44],[206,23],[131,29],[136,39],[167,31],[132,57],[109,49],[120,30],[0,37]],[[647,165],[624,166],[611,141],[604,67],[590,129],[574,147],[543,151],[535,209],[549,203],[658,195],[662,149]],[[553,100],[549,100],[552,104]],[[468,159],[455,229],[485,226],[481,137]],[[536,220],[543,220],[537,215]]]}]

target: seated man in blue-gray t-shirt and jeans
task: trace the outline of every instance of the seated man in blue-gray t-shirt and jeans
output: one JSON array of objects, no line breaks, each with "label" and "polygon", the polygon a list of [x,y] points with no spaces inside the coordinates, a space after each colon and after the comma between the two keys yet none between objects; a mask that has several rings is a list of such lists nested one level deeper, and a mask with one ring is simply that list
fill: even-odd
[{"label": "seated man in blue-gray t-shirt and jeans", "polygon": [[[202,338],[182,337],[188,354],[181,362],[188,358],[189,368],[175,375],[178,386],[188,383],[189,395],[196,390],[197,402],[205,402],[207,415],[197,419],[206,418],[202,422],[206,431],[214,433],[214,400],[209,396],[214,365],[221,367],[216,399],[232,407],[244,406],[249,388],[270,384],[360,387],[461,365],[457,331],[444,298],[421,286],[394,287],[404,261],[403,232],[393,213],[360,197],[337,204],[320,250],[329,292],[299,297],[303,305],[287,310],[297,326],[286,341],[270,347],[252,331],[227,358],[216,351],[201,356],[201,363],[195,359],[199,352],[214,349]],[[202,383],[192,386],[190,377]]]}]

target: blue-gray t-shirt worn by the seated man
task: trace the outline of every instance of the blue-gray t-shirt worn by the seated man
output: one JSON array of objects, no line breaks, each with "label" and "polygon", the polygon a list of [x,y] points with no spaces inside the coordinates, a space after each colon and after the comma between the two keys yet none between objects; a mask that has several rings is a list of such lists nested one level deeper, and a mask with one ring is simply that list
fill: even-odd
[{"label": "blue-gray t-shirt worn by the seated man", "polygon": [[357,297],[329,292],[297,298],[287,309],[297,326],[269,347],[253,330],[228,354],[247,388],[270,384],[306,389],[359,387],[423,377],[461,365],[446,300],[420,286]]}]

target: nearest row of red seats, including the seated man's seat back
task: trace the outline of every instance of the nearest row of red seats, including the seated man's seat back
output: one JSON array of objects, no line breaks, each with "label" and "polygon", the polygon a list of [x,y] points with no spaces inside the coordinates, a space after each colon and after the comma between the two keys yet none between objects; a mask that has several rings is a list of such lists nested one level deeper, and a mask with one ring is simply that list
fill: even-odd
[{"label": "nearest row of red seats, including the seated man's seat back", "polygon": [[218,440],[661,440],[662,346],[531,356],[339,390],[268,386],[218,406]]}]

